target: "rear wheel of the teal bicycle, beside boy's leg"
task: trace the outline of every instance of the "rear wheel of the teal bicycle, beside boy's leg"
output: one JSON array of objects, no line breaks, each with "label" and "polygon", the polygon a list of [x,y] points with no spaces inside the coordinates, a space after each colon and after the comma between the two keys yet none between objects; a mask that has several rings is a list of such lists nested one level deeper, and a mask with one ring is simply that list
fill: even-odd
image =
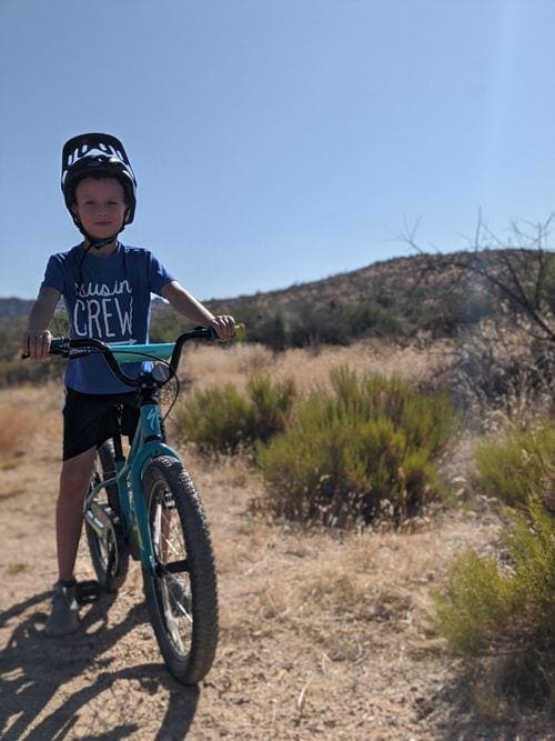
[{"label": "rear wheel of the teal bicycle, beside boy's leg", "polygon": [[[104,442],[97,451],[91,487],[115,475],[113,444]],[[125,581],[129,568],[129,551],[119,527],[118,485],[101,489],[84,514],[84,524],[92,565],[97,579],[108,592],[117,592]],[[92,522],[97,522],[93,527]],[[98,528],[100,522],[103,528]]]}]

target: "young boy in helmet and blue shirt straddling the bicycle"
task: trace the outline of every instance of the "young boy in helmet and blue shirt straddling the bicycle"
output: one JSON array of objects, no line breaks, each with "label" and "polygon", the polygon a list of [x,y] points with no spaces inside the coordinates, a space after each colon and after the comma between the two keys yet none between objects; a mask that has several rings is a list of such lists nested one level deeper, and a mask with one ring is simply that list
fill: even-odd
[{"label": "young boy in helmet and blue shirt straddling the bicycle", "polygon": [[[65,206],[83,236],[68,252],[50,257],[23,336],[23,353],[48,357],[48,330],[63,297],[72,338],[110,343],[148,341],[150,296],[157,293],[194,324],[213,327],[222,340],[233,334],[232,317],[214,317],[144,249],[125,247],[119,233],[133,221],[135,178],[121,142],[109,134],[70,139],[62,152]],[[117,402],[133,405],[134,392],[115,379],[101,356],[72,360],[65,371],[63,463],[56,512],[59,581],[54,585],[48,635],[79,628],[73,574],[97,445]]]}]

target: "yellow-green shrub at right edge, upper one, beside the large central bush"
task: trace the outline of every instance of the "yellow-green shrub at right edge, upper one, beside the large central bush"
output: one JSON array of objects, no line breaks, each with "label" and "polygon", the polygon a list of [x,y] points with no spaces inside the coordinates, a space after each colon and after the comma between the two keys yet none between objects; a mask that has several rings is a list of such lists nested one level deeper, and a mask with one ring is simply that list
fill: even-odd
[{"label": "yellow-green shrub at right edge, upper one, beside the large central bush", "polygon": [[531,495],[549,498],[555,471],[555,423],[533,432],[514,431],[476,450],[477,483],[483,493],[515,508]]}]

